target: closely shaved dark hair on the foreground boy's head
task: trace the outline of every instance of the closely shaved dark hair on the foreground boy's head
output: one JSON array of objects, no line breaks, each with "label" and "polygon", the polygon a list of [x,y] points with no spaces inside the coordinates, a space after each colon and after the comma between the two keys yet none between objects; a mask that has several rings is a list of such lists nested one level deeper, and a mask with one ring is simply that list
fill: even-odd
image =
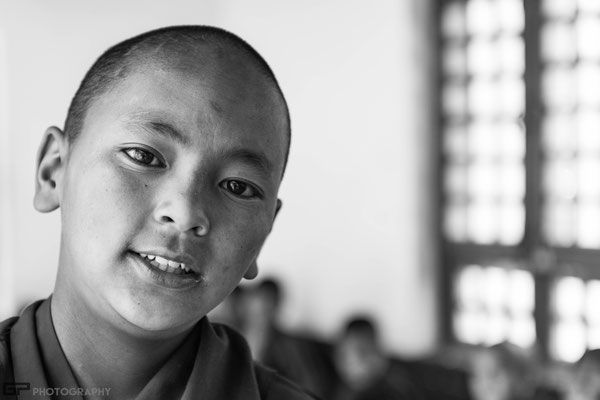
[{"label": "closely shaved dark hair on the foreground boy's head", "polygon": [[[64,131],[73,143],[81,133],[87,111],[100,97],[145,68],[172,68],[219,74],[223,70],[254,70],[272,86],[281,110],[273,118],[283,118],[287,139],[285,160],[291,138],[290,117],[285,97],[267,62],[238,36],[210,26],[174,26],[146,32],[109,48],[92,65],[75,93]],[[218,112],[219,105],[213,104]],[[285,169],[285,166],[284,166]]]}]

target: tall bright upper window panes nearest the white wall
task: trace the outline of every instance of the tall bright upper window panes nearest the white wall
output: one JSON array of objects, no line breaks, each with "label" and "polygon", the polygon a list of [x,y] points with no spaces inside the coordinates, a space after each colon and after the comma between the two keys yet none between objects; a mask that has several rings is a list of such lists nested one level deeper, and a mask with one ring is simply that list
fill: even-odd
[{"label": "tall bright upper window panes nearest the white wall", "polygon": [[523,21],[517,0],[453,1],[443,11],[444,231],[456,242],[523,237]]}]

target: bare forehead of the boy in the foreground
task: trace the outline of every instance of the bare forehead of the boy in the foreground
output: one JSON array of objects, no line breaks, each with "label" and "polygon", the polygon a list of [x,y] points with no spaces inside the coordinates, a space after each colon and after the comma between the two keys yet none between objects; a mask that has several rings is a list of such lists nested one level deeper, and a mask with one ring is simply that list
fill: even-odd
[{"label": "bare forehead of the boy in the foreground", "polygon": [[184,144],[253,148],[279,169],[287,145],[286,115],[273,83],[238,57],[185,56],[138,62],[92,103],[83,131],[98,119],[159,133],[174,128],[183,133]]}]

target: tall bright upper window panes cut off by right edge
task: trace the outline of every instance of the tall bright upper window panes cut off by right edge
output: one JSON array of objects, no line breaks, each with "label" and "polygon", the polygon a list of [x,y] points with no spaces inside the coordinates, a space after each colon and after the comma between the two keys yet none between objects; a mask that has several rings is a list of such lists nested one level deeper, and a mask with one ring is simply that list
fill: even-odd
[{"label": "tall bright upper window panes cut off by right edge", "polygon": [[600,7],[544,0],[542,19],[542,232],[553,246],[599,249]]}]

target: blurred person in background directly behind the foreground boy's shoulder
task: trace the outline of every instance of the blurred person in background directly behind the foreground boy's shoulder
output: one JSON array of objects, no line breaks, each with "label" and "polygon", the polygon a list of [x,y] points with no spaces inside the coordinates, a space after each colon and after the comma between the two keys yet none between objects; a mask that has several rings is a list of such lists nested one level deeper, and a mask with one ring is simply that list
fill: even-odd
[{"label": "blurred person in background directly behind the foreground boy's shoulder", "polygon": [[275,278],[246,287],[236,302],[241,332],[256,360],[327,399],[335,382],[331,346],[281,328],[281,300],[282,288]]}]

